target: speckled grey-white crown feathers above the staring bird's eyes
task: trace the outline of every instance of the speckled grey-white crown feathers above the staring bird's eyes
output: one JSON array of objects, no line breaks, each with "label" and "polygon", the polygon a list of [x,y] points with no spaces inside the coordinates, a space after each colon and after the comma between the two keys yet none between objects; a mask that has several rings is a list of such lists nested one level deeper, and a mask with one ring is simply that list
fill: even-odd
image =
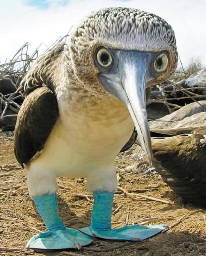
[{"label": "speckled grey-white crown feathers above the staring bird's eyes", "polygon": [[68,43],[74,62],[86,62],[87,67],[99,46],[143,52],[166,50],[170,57],[168,77],[177,66],[172,27],[164,19],[137,9],[113,7],[92,12],[74,29]]}]

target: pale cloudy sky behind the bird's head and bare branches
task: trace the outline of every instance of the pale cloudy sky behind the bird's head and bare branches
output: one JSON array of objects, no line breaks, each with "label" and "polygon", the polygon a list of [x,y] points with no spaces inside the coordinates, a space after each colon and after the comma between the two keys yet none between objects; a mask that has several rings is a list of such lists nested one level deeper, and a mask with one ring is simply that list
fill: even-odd
[{"label": "pale cloudy sky behind the bird's head and bare branches", "polygon": [[206,0],[5,0],[0,4],[0,64],[29,42],[29,52],[44,52],[89,12],[126,6],[152,12],[173,28],[179,57],[206,66]]}]

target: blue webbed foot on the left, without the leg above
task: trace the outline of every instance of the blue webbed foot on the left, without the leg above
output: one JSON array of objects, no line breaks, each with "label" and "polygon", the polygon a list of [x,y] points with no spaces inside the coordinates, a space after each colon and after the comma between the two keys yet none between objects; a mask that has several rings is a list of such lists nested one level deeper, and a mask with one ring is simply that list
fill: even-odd
[{"label": "blue webbed foot on the left, without the leg above", "polygon": [[47,230],[33,236],[27,243],[27,248],[34,249],[80,249],[82,246],[94,241],[79,230],[72,228],[62,228],[56,230]]}]

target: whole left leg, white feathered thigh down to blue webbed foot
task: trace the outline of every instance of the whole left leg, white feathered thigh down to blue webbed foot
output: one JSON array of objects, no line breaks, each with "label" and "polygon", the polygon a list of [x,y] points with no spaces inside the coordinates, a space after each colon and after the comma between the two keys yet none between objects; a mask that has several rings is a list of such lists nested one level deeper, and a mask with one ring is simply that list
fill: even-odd
[{"label": "whole left leg, white feathered thigh down to blue webbed foot", "polygon": [[94,239],[90,236],[79,230],[66,228],[58,212],[56,176],[47,170],[44,172],[39,170],[33,166],[30,167],[27,183],[29,194],[45,222],[46,231],[33,236],[27,243],[27,248],[80,249],[81,246],[92,243]]}]

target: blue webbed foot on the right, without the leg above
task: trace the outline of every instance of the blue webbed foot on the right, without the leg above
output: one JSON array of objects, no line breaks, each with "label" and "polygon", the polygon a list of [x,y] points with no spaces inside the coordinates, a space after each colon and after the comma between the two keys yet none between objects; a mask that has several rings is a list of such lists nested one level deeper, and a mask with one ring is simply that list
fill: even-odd
[{"label": "blue webbed foot on the right, without the leg above", "polygon": [[167,228],[166,225],[156,226],[125,226],[123,228],[110,228],[106,230],[98,230],[92,228],[81,228],[80,231],[91,236],[100,237],[111,240],[130,240],[130,241],[141,241],[160,233],[162,230]]}]

